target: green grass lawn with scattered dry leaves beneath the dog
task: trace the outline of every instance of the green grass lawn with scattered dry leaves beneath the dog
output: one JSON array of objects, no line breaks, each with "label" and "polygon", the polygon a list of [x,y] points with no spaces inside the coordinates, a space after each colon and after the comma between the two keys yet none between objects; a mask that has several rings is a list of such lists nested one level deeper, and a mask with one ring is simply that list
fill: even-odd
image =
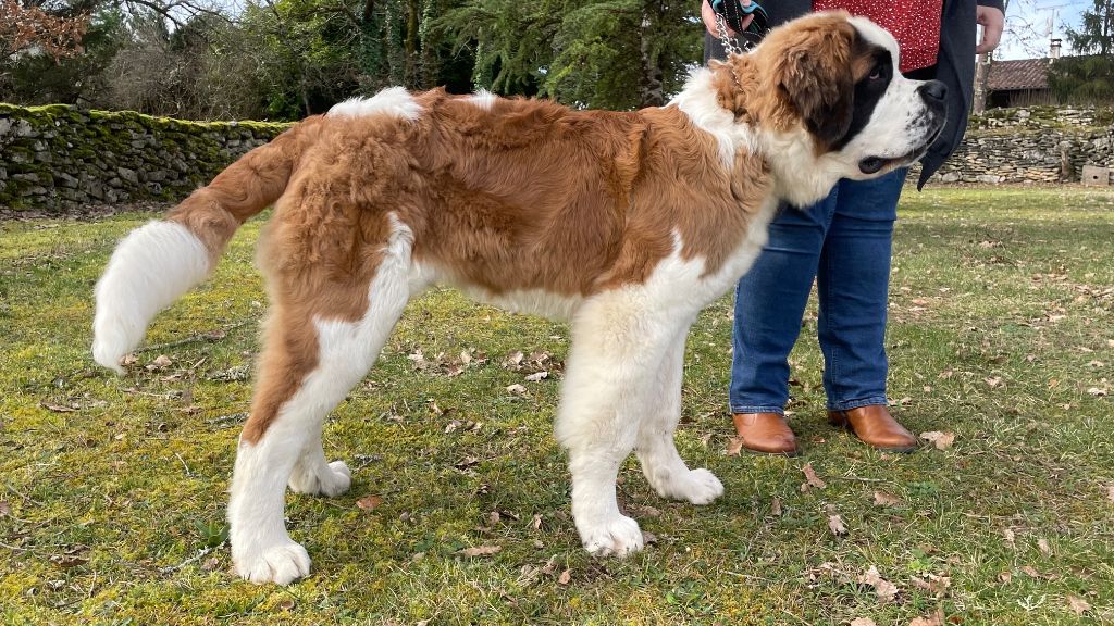
[{"label": "green grass lawn with scattered dry leaves beneath the dog", "polygon": [[[629,461],[620,502],[656,542],[626,560],[580,549],[550,432],[557,381],[500,366],[512,351],[563,360],[566,326],[433,291],[326,426],[326,454],[348,460],[352,490],[287,498],[291,535],[314,564],[286,588],[229,575],[222,544],[251,394],[237,374],[265,309],[251,264],[261,224],[155,322],[147,344],[172,345],[140,352],[123,379],[89,359],[92,284],[114,242],[148,217],[0,224],[4,624],[903,626],[937,609],[966,625],[1114,620],[1108,192],[907,193],[890,395],[915,432],[955,432],[946,450],[879,453],[823,423],[810,310],[790,408],[804,454],[725,456],[731,302],[715,303],[688,341],[678,446],[726,495],[705,508],[663,501]],[[414,371],[418,349],[488,361]],[[173,363],[144,368],[159,354]],[[528,395],[505,391],[514,383]],[[805,463],[825,489],[801,491]],[[878,506],[874,491],[900,501]],[[356,507],[368,495],[382,505]],[[837,513],[844,536],[828,528]],[[482,545],[501,551],[456,554]],[[857,581],[871,566],[898,586],[892,601]],[[1076,615],[1068,597],[1091,608]]]}]

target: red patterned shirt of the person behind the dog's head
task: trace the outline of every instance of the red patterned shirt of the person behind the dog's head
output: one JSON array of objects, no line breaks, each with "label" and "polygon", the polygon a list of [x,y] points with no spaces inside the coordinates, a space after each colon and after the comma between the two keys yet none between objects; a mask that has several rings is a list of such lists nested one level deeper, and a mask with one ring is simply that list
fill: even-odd
[{"label": "red patterned shirt of the person behind the dog's head", "polygon": [[901,49],[901,71],[936,65],[944,0],[813,0],[812,8],[843,9],[893,33]]}]

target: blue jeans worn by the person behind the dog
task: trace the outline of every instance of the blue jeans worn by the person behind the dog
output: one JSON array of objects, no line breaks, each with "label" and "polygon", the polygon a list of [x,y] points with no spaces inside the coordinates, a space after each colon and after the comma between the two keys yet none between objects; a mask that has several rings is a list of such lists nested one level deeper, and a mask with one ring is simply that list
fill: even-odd
[{"label": "blue jeans worn by the person behind the dog", "polygon": [[830,410],[886,404],[890,248],[906,169],[840,180],[804,208],[783,207],[770,241],[735,290],[733,413],[784,413],[789,353],[813,278],[817,335]]}]

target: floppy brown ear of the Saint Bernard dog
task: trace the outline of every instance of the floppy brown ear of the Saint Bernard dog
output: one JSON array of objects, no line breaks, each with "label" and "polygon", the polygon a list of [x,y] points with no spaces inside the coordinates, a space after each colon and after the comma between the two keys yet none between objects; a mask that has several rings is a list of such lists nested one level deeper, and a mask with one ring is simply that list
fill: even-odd
[{"label": "floppy brown ear of the Saint Bernard dog", "polygon": [[854,80],[850,60],[856,37],[846,19],[825,28],[800,28],[788,38],[778,63],[782,97],[824,145],[837,143],[851,126]]}]

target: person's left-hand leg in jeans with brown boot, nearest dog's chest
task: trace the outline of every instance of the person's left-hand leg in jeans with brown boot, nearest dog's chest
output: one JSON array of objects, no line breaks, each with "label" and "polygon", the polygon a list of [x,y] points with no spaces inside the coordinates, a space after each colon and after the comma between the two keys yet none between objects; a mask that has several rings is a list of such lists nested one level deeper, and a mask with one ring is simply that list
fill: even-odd
[{"label": "person's left-hand leg in jeans with brown boot, nearest dog's chest", "polygon": [[729,401],[743,446],[760,452],[793,452],[785,427],[789,353],[801,332],[837,192],[811,207],[783,207],[770,223],[770,239],[735,288]]}]

